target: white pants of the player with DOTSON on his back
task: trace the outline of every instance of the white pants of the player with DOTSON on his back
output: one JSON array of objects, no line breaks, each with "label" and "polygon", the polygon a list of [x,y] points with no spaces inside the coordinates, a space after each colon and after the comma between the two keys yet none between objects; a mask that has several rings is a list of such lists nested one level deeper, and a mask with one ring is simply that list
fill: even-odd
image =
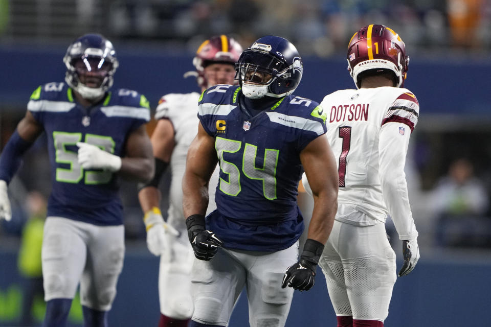
[{"label": "white pants of the player with DOTSON on his back", "polygon": [[319,266],[337,316],[387,318],[396,265],[383,223],[356,226],[334,221]]}]

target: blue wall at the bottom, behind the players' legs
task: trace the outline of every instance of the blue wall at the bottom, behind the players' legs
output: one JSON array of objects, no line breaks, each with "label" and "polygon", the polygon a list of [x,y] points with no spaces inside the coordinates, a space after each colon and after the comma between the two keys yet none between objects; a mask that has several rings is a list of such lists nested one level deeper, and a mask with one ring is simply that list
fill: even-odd
[{"label": "blue wall at the bottom, behind the players' legs", "polygon": [[[15,250],[0,250],[0,326],[12,326],[20,314],[23,279],[16,273]],[[401,259],[398,258],[398,266]],[[145,248],[128,248],[118,294],[109,314],[109,325],[118,327],[156,326],[159,319],[159,260]],[[399,268],[399,267],[398,267]],[[389,308],[387,327],[484,326],[491,306],[488,282],[491,259],[468,254],[426,252],[409,276],[397,278]],[[172,296],[172,295],[170,295]],[[42,319],[42,303],[35,309]],[[72,306],[70,325],[81,326],[78,298]],[[230,322],[247,327],[248,310],[241,296]],[[286,327],[336,325],[325,279],[319,270],[316,285],[308,292],[295,292]]]}]

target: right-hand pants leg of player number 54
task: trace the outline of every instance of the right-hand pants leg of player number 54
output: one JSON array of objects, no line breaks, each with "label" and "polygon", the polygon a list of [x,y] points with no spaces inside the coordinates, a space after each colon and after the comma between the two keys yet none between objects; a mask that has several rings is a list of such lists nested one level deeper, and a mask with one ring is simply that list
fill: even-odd
[{"label": "right-hand pants leg of player number 54", "polygon": [[298,258],[298,242],[291,247],[261,255],[249,255],[247,294],[251,327],[283,326],[294,289],[281,288],[285,271]]}]

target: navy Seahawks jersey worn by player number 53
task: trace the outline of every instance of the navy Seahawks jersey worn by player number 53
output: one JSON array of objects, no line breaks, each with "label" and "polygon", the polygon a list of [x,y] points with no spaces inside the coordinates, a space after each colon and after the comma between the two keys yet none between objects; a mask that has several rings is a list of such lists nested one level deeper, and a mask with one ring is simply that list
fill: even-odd
[{"label": "navy Seahawks jersey worn by player number 53", "polygon": [[148,101],[127,89],[108,91],[89,109],[74,101],[66,83],[48,83],[32,94],[28,110],[48,139],[53,190],[48,216],[95,225],[122,224],[119,178],[102,170],[84,170],[77,160],[77,142],[124,156],[127,135],[149,121]]}]

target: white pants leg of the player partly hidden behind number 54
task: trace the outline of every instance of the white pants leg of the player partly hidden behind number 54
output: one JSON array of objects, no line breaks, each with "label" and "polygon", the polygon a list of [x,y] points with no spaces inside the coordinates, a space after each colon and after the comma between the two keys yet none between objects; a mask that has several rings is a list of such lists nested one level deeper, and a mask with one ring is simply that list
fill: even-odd
[{"label": "white pants leg of the player partly hidden behind number 54", "polygon": [[188,319],[193,314],[191,269],[194,252],[187,233],[175,238],[170,258],[161,256],[159,267],[160,312],[175,319]]}]

